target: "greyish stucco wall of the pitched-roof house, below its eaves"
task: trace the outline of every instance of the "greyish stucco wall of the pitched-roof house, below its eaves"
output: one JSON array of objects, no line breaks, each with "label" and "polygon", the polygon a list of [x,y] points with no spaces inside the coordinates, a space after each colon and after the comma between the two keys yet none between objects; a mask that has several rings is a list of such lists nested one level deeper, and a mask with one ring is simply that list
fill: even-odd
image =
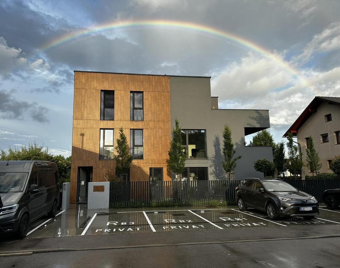
[{"label": "greyish stucco wall of the pitched-roof house, below its eaves", "polygon": [[[332,115],[332,121],[325,122],[326,114]],[[297,142],[301,145],[302,159],[306,163],[306,138],[312,136],[314,147],[319,153],[322,167],[320,173],[330,173],[327,160],[340,155],[340,144],[336,144],[335,131],[340,131],[340,105],[323,102],[297,131]],[[321,134],[328,133],[329,142],[322,143]],[[311,173],[310,173],[311,174]]]}]

